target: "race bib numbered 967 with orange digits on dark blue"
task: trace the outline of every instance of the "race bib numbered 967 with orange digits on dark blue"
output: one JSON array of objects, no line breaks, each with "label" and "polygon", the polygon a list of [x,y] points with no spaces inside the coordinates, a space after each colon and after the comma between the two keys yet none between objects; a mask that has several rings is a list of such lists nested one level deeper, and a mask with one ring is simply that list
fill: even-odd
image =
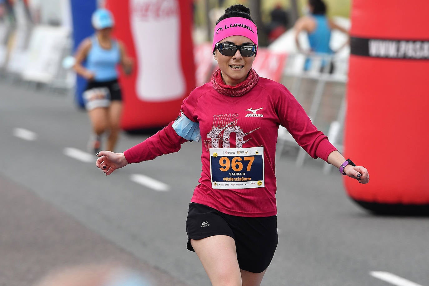
[{"label": "race bib numbered 967 with orange digits on dark blue", "polygon": [[213,189],[265,187],[264,148],[210,148]]}]

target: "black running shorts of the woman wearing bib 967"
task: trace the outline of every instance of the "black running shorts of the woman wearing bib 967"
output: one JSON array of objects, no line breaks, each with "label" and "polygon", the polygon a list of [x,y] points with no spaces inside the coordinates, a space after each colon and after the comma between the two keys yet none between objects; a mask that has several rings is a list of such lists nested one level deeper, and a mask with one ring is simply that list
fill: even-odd
[{"label": "black running shorts of the woman wearing bib 967", "polygon": [[240,269],[260,273],[268,268],[278,243],[277,216],[237,217],[191,202],[186,220],[187,249],[190,239],[213,235],[234,238]]}]

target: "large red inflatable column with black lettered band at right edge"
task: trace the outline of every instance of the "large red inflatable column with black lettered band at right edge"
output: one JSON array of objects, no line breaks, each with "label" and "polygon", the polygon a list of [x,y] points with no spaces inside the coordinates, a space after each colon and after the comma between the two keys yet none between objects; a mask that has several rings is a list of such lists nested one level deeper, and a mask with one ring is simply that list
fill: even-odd
[{"label": "large red inflatable column with black lettered band at right edge", "polygon": [[344,153],[370,183],[344,179],[376,213],[429,214],[429,1],[354,0]]}]

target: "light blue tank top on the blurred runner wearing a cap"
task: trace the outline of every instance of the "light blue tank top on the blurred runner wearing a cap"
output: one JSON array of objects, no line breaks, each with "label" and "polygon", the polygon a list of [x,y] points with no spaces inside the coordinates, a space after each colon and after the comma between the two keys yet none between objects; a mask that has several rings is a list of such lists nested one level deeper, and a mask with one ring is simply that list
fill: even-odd
[{"label": "light blue tank top on the blurred runner wearing a cap", "polygon": [[91,37],[91,50],[86,58],[87,69],[94,72],[95,81],[112,81],[118,78],[116,65],[121,60],[118,42],[112,40],[112,48],[106,50],[100,46],[97,36]]}]

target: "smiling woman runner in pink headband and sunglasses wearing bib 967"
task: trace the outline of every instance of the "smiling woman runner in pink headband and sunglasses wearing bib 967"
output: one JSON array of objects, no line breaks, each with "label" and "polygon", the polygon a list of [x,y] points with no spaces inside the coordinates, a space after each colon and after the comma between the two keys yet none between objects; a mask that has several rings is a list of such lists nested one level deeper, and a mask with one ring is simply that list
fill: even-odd
[{"label": "smiling woman runner in pink headband and sunglasses wearing bib 967", "polygon": [[[311,157],[341,174],[362,184],[369,174],[344,159],[284,85],[252,69],[258,36],[248,8],[227,8],[214,32],[219,69],[211,82],[196,87],[164,129],[124,153],[100,151],[96,165],[110,175],[129,163],[177,152],[186,141],[201,141],[202,172],[189,204],[187,249],[196,252],[212,285],[258,286],[278,243],[279,125]],[[168,75],[165,80],[168,84]]]}]

